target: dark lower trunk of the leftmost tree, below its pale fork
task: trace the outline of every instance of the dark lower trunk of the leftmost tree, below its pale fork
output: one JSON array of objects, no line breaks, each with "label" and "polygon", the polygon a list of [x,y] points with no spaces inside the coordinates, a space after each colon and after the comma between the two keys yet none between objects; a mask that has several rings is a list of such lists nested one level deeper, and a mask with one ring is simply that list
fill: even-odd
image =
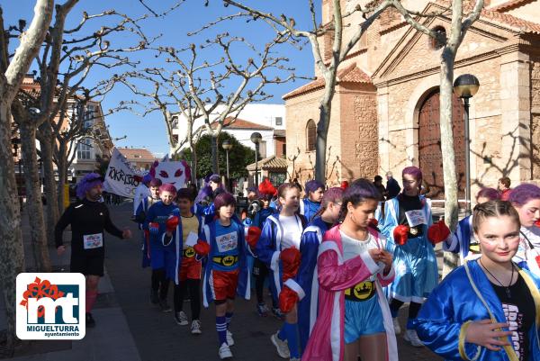
[{"label": "dark lower trunk of the leftmost tree, below its pale fork", "polygon": [[14,351],[15,279],[24,272],[21,208],[11,149],[11,119],[10,105],[6,97],[0,96],[0,284],[4,291],[8,352]]}]

